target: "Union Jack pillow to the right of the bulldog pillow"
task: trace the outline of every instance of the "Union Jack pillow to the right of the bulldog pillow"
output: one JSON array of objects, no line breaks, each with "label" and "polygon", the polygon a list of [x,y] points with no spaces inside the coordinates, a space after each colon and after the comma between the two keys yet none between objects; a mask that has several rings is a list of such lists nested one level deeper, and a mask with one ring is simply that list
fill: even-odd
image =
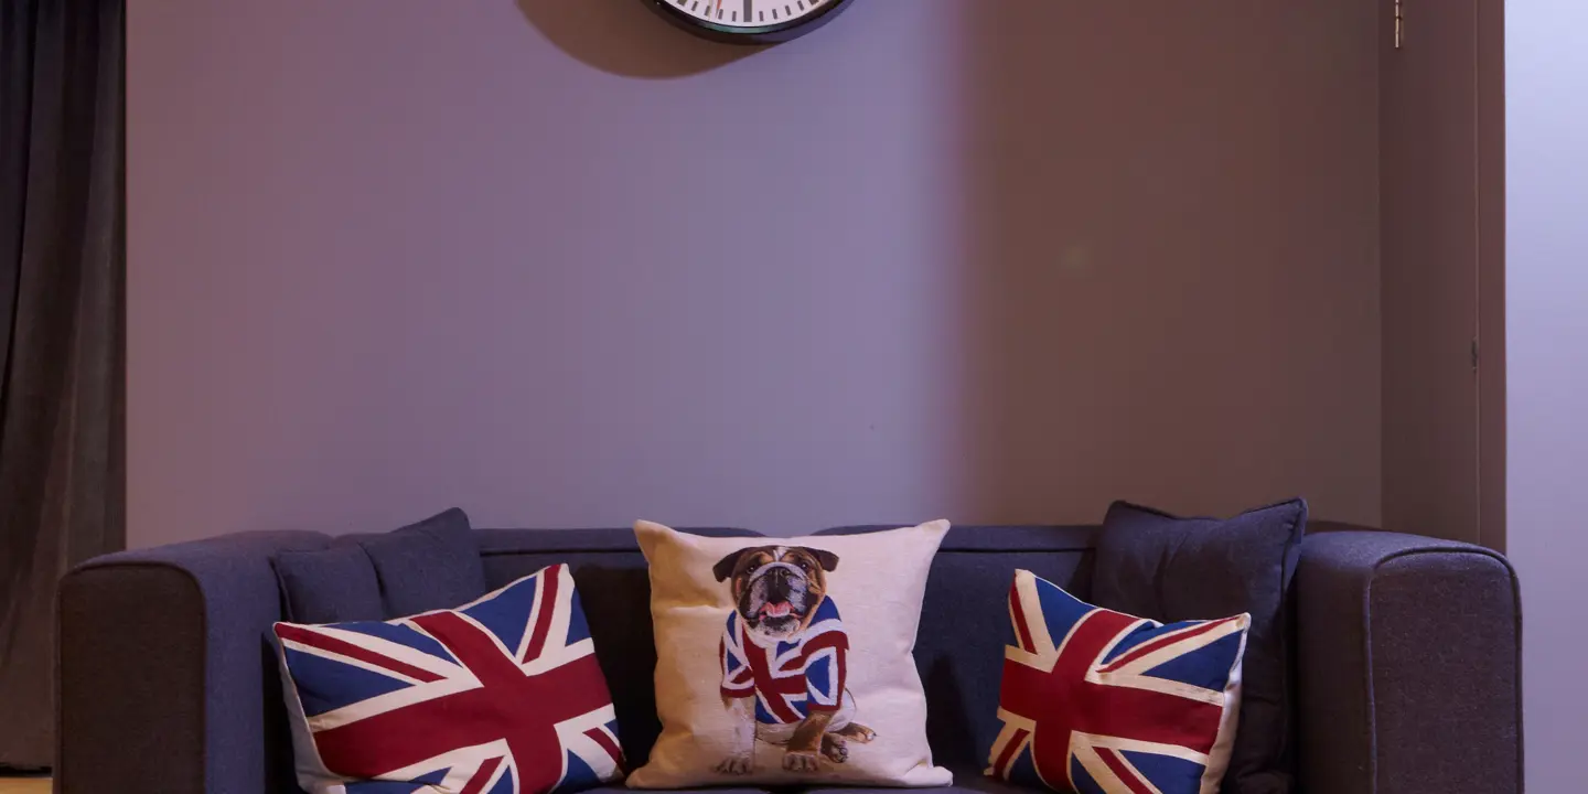
[{"label": "Union Jack pillow to the right of the bulldog pillow", "polygon": [[986,773],[1080,794],[1215,794],[1240,713],[1248,615],[1169,626],[1081,602],[1029,570],[1008,592]]}]

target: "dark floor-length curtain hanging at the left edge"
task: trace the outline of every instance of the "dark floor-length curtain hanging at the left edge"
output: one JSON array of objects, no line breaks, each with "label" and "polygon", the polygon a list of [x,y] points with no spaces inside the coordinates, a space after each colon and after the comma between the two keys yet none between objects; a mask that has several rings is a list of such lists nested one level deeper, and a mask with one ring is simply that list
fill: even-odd
[{"label": "dark floor-length curtain hanging at the left edge", "polygon": [[124,0],[0,0],[0,767],[54,757],[56,581],[124,545]]}]

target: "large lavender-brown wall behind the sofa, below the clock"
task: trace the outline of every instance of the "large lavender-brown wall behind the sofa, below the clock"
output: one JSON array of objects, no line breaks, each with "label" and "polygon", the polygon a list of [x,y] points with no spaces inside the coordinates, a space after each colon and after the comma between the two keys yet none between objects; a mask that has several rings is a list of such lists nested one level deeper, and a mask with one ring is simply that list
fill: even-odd
[{"label": "large lavender-brown wall behind the sofa, below the clock", "polygon": [[129,538],[1375,522],[1375,22],[132,3]]}]

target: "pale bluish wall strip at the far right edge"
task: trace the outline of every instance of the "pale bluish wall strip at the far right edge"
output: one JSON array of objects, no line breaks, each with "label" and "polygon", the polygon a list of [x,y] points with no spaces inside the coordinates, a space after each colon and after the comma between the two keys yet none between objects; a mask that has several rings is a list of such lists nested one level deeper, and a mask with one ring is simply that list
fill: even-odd
[{"label": "pale bluish wall strip at the far right edge", "polygon": [[1578,0],[1505,8],[1510,557],[1526,605],[1528,789],[1588,788],[1588,25]]}]

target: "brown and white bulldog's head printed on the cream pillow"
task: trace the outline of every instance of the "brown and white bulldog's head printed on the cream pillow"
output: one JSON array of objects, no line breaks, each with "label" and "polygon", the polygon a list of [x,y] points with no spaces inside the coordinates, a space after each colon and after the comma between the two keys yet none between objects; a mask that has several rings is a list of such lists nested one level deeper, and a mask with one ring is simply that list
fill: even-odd
[{"label": "brown and white bulldog's head printed on the cream pillow", "polygon": [[711,567],[716,581],[732,580],[745,627],[769,640],[805,630],[827,597],[827,573],[838,556],[805,546],[757,546],[735,551]]}]

